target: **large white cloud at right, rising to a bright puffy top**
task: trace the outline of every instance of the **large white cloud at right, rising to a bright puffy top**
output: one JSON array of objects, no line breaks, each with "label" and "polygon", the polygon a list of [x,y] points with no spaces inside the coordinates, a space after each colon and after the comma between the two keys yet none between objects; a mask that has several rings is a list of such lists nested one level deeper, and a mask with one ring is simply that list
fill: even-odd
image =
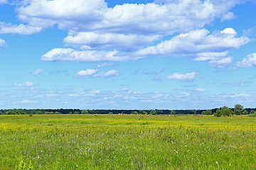
[{"label": "large white cloud at right, rising to a bright puffy top", "polygon": [[228,50],[238,49],[241,45],[250,42],[249,38],[235,38],[236,32],[233,28],[225,28],[219,32],[215,31],[208,35],[206,29],[193,30],[182,33],[165,40],[155,46],[149,46],[136,52],[137,55],[184,55],[191,57],[206,56],[214,60],[215,57],[223,57]]}]

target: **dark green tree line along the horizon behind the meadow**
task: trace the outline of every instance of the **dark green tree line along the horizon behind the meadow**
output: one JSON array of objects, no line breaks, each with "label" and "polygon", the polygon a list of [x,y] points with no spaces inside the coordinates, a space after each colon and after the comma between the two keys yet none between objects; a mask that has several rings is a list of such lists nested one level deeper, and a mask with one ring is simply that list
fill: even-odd
[{"label": "dark green tree line along the horizon behind the meadow", "polygon": [[234,108],[228,108],[223,106],[221,108],[213,108],[209,110],[117,110],[117,109],[1,109],[0,115],[42,115],[42,114],[141,114],[141,115],[187,115],[187,114],[198,114],[198,115],[215,115],[220,116],[231,116],[235,115],[254,115],[256,108],[243,108],[242,105],[237,104]]}]

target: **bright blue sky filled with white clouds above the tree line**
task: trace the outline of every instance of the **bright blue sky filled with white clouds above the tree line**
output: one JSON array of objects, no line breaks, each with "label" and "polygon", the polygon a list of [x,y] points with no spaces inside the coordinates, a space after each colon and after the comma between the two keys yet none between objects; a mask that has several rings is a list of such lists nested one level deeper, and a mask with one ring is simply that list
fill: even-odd
[{"label": "bright blue sky filled with white clouds above the tree line", "polygon": [[254,0],[0,0],[0,108],[256,107]]}]

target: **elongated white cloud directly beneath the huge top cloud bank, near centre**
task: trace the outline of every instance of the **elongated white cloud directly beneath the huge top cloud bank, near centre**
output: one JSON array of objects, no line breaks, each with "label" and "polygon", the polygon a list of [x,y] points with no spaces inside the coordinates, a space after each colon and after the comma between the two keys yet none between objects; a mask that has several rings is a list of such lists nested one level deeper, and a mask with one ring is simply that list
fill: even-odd
[{"label": "elongated white cloud directly beneath the huge top cloud bank, near centre", "polygon": [[82,50],[98,49],[136,49],[138,47],[149,45],[157,40],[159,35],[135,35],[135,34],[116,34],[116,33],[95,33],[82,32],[77,35],[68,35],[64,38],[65,45],[81,45]]}]

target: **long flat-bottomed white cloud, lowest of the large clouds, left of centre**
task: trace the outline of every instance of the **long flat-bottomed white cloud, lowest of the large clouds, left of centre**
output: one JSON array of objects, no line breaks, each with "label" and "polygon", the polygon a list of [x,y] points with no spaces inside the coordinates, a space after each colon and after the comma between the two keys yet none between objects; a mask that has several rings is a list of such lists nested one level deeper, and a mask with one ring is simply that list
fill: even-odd
[{"label": "long flat-bottomed white cloud, lowest of the large clouds, left of centre", "polygon": [[129,56],[114,51],[75,51],[71,48],[55,48],[42,55],[41,60],[46,62],[108,62],[138,60],[142,57]]}]

